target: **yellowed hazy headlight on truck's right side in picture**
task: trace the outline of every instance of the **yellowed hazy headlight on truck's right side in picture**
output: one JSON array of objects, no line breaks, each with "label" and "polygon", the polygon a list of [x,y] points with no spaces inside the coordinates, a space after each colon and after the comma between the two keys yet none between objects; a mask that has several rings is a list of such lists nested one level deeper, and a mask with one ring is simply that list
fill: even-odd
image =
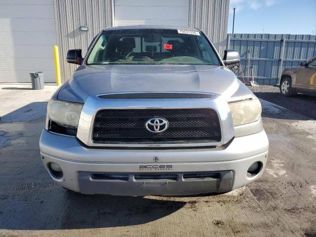
[{"label": "yellowed hazy headlight on truck's right side in picture", "polygon": [[255,122],[261,117],[261,104],[258,98],[229,103],[234,126]]}]

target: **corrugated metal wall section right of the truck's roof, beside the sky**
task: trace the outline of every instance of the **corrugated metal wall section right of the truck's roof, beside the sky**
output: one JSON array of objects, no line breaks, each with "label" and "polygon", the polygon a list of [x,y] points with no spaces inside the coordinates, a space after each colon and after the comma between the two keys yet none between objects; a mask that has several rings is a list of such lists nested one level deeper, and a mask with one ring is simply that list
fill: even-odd
[{"label": "corrugated metal wall section right of the truck's roof, beside the sky", "polygon": [[221,56],[226,49],[229,0],[190,0],[189,26],[202,30]]}]

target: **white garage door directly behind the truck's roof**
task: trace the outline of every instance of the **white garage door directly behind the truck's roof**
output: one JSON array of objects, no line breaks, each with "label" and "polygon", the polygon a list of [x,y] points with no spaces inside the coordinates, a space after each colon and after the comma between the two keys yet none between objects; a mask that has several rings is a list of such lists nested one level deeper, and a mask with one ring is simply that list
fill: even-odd
[{"label": "white garage door directly behind the truck's roof", "polygon": [[116,26],[189,25],[189,0],[115,0]]}]

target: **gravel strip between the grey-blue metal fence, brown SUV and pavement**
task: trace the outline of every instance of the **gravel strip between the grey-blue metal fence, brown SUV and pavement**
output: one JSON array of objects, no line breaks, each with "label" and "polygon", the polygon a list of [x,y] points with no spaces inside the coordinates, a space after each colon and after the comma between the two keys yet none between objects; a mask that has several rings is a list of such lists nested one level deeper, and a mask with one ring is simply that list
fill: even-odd
[{"label": "gravel strip between the grey-blue metal fence, brown SUV and pavement", "polygon": [[[273,85],[248,86],[259,98],[282,106],[288,110],[316,119],[316,97],[297,94],[291,97],[282,96],[279,88]],[[282,112],[280,112],[282,113]]]}]

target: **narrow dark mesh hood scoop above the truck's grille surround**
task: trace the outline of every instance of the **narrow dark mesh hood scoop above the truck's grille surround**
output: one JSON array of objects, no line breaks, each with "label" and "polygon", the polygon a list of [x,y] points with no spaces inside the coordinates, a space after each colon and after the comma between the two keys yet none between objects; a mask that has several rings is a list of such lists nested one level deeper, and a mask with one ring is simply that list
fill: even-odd
[{"label": "narrow dark mesh hood scoop above the truck's grille surround", "polygon": [[204,99],[214,94],[200,92],[127,92],[99,95],[102,99]]}]

